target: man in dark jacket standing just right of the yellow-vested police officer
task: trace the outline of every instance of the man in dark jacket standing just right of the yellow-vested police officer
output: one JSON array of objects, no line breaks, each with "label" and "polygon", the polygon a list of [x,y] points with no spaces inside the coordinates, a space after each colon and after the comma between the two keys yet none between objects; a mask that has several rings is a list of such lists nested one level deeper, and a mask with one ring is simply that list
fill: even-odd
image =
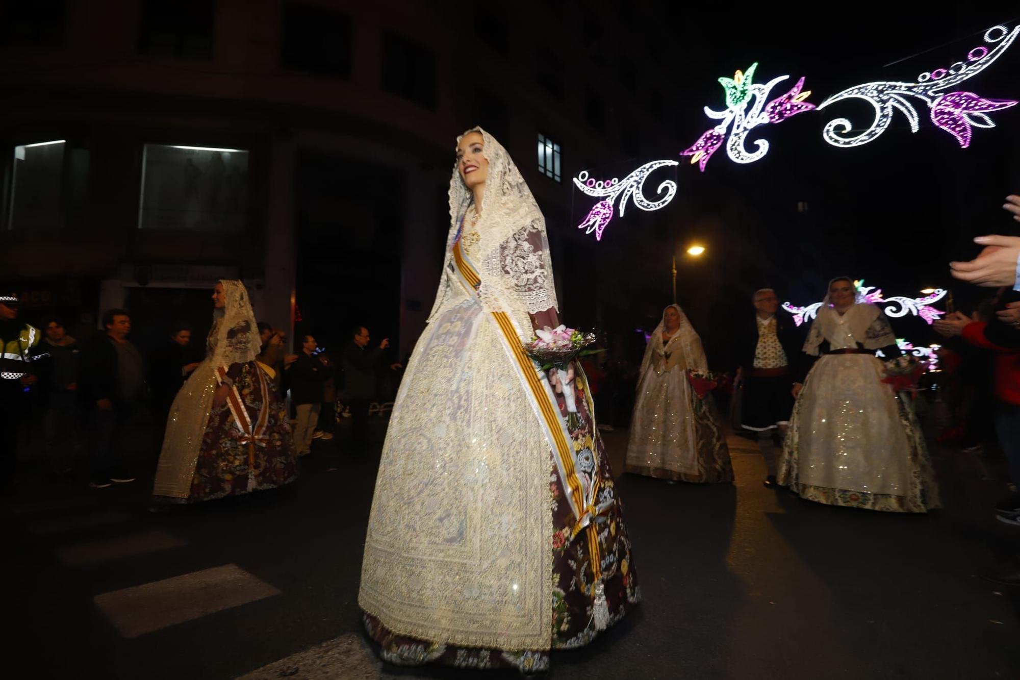
[{"label": "man in dark jacket standing just right of the yellow-vested police officer", "polygon": [[74,462],[75,402],[78,400],[78,365],[81,347],[67,335],[63,324],[53,319],[43,325],[43,340],[50,353],[46,376],[46,463],[57,475],[69,473]]}]

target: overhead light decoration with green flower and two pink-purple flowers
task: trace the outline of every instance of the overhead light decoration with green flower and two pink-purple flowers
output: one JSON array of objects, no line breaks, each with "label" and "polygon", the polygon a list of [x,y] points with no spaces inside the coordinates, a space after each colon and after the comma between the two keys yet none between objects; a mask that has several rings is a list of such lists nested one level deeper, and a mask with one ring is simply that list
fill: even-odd
[{"label": "overhead light decoration with green flower and two pink-purple flowers", "polygon": [[744,144],[748,133],[758,126],[782,123],[793,115],[815,108],[814,104],[805,101],[811,91],[801,91],[804,87],[803,78],[797,81],[789,92],[766,103],[772,88],[789,76],[780,76],[761,85],[754,82],[757,68],[756,61],[747,72],[737,70],[732,78],[719,79],[726,91],[726,108],[716,111],[706,106],[705,115],[721,123],[705,131],[697,142],[680,152],[681,156],[691,156],[691,164],[698,163],[701,172],[705,172],[705,165],[723,142],[726,142],[726,155],[730,160],[738,163],[758,160],[768,153],[769,144],[763,139],[755,140],[755,150],[748,151]]}]

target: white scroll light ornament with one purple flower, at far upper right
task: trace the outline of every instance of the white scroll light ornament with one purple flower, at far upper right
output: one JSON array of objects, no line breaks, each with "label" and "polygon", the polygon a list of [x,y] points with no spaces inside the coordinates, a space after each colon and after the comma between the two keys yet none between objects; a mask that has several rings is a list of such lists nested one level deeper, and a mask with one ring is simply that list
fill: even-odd
[{"label": "white scroll light ornament with one purple flower, at far upper right", "polygon": [[966,60],[957,61],[949,68],[935,68],[917,77],[916,83],[876,82],[865,83],[844,90],[823,101],[818,109],[845,99],[863,99],[875,109],[871,126],[859,135],[845,137],[853,130],[847,118],[833,118],[825,124],[822,136],[833,146],[851,147],[867,144],[877,139],[889,127],[894,109],[899,109],[910,123],[911,132],[920,129],[917,109],[906,97],[920,99],[931,109],[931,122],[956,137],[960,146],[970,146],[971,127],[994,128],[988,117],[990,111],[998,111],[1018,102],[1013,99],[985,99],[973,92],[944,92],[969,80],[987,68],[1001,57],[1020,34],[1020,25],[1012,31],[1005,26],[996,26],[984,32],[984,42],[993,45],[989,50],[980,45],[967,53]]}]

